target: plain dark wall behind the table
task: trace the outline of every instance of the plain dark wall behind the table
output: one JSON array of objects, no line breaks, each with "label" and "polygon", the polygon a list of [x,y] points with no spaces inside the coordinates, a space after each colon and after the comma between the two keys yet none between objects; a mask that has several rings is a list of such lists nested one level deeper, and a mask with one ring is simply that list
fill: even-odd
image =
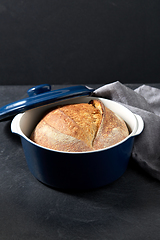
[{"label": "plain dark wall behind the table", "polygon": [[0,0],[0,84],[160,82],[159,0]]}]

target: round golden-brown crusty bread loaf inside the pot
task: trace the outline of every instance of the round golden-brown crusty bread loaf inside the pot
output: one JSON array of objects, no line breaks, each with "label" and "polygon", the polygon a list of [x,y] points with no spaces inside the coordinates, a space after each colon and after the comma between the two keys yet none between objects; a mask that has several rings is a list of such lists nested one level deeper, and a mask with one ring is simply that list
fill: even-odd
[{"label": "round golden-brown crusty bread loaf inside the pot", "polygon": [[126,123],[99,100],[48,112],[30,139],[58,151],[84,152],[112,146],[128,136]]}]

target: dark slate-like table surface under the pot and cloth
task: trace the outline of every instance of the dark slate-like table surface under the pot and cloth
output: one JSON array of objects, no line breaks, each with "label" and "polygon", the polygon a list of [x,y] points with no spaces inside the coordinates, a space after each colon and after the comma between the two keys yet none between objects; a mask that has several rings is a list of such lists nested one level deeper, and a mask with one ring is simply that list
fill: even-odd
[{"label": "dark slate-like table surface under the pot and cloth", "polygon": [[[152,86],[160,88],[160,84]],[[0,86],[0,107],[26,97],[30,87]],[[32,176],[10,124],[0,122],[1,240],[160,239],[160,182],[132,159],[123,176],[108,186],[58,191]]]}]

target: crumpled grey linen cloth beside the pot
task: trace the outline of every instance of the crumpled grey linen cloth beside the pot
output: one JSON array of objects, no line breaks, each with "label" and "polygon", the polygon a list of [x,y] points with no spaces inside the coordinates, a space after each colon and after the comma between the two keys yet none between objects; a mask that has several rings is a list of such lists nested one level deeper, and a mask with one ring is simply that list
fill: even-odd
[{"label": "crumpled grey linen cloth beside the pot", "polygon": [[96,89],[94,95],[119,102],[142,117],[144,130],[135,137],[132,158],[160,180],[160,89],[142,85],[132,90],[117,81]]}]

